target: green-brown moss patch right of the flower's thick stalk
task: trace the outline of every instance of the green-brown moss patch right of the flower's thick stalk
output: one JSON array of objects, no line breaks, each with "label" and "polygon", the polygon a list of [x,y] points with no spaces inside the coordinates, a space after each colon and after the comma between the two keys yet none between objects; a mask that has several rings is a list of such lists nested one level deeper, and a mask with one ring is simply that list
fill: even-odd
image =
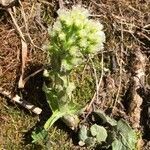
[{"label": "green-brown moss patch right of the flower's thick stalk", "polygon": [[[98,56],[95,56],[93,59],[94,67],[98,70],[96,72],[98,80],[101,75],[100,61],[101,59]],[[76,68],[72,73],[71,79],[75,82],[76,86],[74,100],[84,107],[87,102],[91,101],[96,90],[96,80],[92,64],[89,62],[86,66]]]}]

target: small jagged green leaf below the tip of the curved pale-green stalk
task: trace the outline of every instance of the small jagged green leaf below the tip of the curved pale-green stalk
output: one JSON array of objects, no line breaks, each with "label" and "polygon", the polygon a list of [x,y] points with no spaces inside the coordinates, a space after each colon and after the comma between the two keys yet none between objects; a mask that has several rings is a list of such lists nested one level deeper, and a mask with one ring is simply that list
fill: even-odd
[{"label": "small jagged green leaf below the tip of the curved pale-green stalk", "polygon": [[32,143],[43,141],[48,136],[48,132],[45,129],[39,129],[38,131],[32,132]]}]

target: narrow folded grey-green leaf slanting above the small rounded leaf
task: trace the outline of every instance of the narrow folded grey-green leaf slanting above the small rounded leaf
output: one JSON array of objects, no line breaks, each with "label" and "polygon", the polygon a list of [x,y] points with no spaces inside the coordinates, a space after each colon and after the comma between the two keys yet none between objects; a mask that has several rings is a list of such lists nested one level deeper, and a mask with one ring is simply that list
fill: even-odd
[{"label": "narrow folded grey-green leaf slanting above the small rounded leaf", "polygon": [[95,114],[97,114],[98,117],[100,117],[100,119],[102,119],[103,123],[108,123],[111,126],[116,126],[117,125],[117,121],[110,118],[109,116],[107,116],[103,111],[101,110],[96,110],[94,111]]}]

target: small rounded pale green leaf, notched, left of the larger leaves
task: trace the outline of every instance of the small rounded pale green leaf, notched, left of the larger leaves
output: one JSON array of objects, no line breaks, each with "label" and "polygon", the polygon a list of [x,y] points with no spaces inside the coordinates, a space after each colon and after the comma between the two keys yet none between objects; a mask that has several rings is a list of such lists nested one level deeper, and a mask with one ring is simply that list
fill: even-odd
[{"label": "small rounded pale green leaf, notched, left of the larger leaves", "polygon": [[96,140],[98,143],[106,141],[107,138],[107,131],[103,126],[99,126],[94,124],[90,128],[92,136],[96,136]]}]

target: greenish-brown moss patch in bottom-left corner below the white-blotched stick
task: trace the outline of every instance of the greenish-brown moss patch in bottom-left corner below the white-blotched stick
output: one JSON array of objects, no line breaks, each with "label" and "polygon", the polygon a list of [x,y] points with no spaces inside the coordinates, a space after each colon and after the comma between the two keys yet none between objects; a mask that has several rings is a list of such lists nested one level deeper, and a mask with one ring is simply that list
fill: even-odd
[{"label": "greenish-brown moss patch in bottom-left corner below the white-blotched stick", "polygon": [[19,150],[24,147],[24,134],[34,126],[37,117],[5,101],[0,99],[0,149]]}]

